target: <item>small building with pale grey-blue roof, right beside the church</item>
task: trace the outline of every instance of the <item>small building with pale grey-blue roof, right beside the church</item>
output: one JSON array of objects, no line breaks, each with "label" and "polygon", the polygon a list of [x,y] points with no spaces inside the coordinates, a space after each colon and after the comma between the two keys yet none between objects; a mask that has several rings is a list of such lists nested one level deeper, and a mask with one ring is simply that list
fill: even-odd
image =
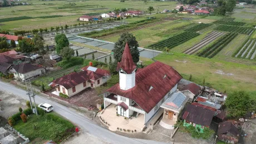
[{"label": "small building with pale grey-blue roof, right beside the church", "polygon": [[180,119],[181,112],[188,101],[189,97],[185,96],[181,92],[176,92],[166,99],[160,106],[164,109],[163,119],[160,121],[160,125],[167,129],[174,129],[176,121]]}]

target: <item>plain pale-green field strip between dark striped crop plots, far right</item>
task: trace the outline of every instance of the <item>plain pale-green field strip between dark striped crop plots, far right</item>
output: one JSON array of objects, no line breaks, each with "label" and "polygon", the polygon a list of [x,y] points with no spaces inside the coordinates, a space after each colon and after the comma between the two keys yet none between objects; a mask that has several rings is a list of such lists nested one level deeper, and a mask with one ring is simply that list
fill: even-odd
[{"label": "plain pale-green field strip between dark striped crop plots, far right", "polygon": [[217,55],[218,56],[225,56],[225,57],[232,57],[233,53],[237,49],[241,47],[241,45],[249,38],[247,34],[238,34],[223,50],[221,50]]}]

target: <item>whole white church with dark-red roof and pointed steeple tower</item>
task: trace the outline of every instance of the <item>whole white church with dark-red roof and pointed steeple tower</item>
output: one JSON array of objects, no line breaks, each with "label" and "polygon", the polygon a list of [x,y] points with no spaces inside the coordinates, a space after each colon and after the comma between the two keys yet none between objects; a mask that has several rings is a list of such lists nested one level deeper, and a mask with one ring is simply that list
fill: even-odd
[{"label": "whole white church with dark-red roof and pointed steeple tower", "polygon": [[163,101],[176,91],[182,78],[171,66],[159,61],[137,69],[127,43],[116,70],[119,71],[119,83],[104,93],[104,109],[115,105],[117,114],[127,118],[140,115],[145,125]]}]

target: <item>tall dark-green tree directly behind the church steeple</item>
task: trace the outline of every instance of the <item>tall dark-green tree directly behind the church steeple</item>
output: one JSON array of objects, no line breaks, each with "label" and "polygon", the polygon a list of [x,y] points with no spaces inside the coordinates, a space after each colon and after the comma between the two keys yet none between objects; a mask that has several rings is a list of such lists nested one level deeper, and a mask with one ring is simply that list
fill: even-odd
[{"label": "tall dark-green tree directly behind the church steeple", "polygon": [[140,59],[140,53],[138,49],[139,44],[134,35],[128,32],[121,34],[120,38],[115,43],[114,49],[112,49],[112,52],[114,52],[114,59],[119,62],[121,61],[122,53],[124,52],[126,42],[129,44],[132,60],[134,61],[134,63],[137,63]]}]

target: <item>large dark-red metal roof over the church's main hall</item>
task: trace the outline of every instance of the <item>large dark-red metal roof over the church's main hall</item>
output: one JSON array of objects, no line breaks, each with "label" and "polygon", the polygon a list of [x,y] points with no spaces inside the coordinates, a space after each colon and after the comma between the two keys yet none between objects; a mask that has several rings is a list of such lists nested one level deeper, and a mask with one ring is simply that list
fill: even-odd
[{"label": "large dark-red metal roof over the church's main hall", "polygon": [[[134,100],[141,109],[149,113],[181,78],[171,66],[156,61],[136,72],[134,88],[121,90],[118,83],[107,91]],[[153,88],[149,91],[151,86]]]}]

